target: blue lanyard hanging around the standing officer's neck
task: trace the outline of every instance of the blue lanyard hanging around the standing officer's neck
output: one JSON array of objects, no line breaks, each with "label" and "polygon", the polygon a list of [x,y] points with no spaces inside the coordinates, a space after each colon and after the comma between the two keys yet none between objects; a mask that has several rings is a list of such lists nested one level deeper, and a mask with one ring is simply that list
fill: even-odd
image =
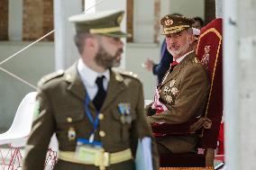
[{"label": "blue lanyard hanging around the standing officer's neck", "polygon": [[89,103],[90,103],[90,98],[89,98],[89,95],[87,94],[87,99],[84,102],[84,104],[85,104],[85,108],[86,108],[86,112],[87,112],[87,117],[88,117],[89,121],[92,123],[92,125],[94,127],[94,130],[92,130],[92,132],[90,134],[90,138],[89,138],[89,142],[92,143],[94,141],[95,132],[96,132],[96,129],[97,129],[97,126],[98,126],[98,123],[99,123],[99,119],[98,119],[99,112],[96,111],[96,120],[94,120],[93,116],[92,116],[92,114],[89,110]]}]

